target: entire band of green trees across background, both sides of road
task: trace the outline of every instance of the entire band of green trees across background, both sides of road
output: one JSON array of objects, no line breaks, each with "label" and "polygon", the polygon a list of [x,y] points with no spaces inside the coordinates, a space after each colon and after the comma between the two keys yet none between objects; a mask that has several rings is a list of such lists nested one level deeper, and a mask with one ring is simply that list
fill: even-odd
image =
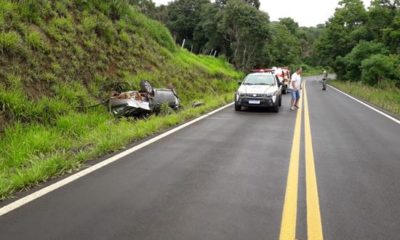
[{"label": "entire band of green trees across background, both sides of road", "polygon": [[342,80],[400,84],[399,0],[372,0],[368,8],[361,0],[341,0],[315,27],[300,27],[290,17],[271,22],[259,0],[176,0],[158,7],[151,0],[130,2],[164,23],[177,44],[224,57],[240,70],[319,66]]}]

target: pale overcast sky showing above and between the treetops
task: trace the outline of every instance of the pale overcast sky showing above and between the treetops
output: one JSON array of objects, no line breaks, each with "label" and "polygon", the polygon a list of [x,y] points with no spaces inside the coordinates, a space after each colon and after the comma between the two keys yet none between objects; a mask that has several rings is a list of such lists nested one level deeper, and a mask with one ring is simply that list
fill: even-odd
[{"label": "pale overcast sky showing above and between the treetops", "polygon": [[[157,5],[172,0],[153,0]],[[271,21],[291,17],[300,26],[312,27],[325,23],[335,12],[339,0],[260,0],[260,9],[267,12]],[[366,7],[370,0],[363,0]]]}]

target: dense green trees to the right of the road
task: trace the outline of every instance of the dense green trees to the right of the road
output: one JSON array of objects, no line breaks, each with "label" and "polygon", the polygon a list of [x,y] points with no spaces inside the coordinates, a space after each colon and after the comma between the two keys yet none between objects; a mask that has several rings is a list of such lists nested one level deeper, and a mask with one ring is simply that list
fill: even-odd
[{"label": "dense green trees to the right of the road", "polygon": [[342,0],[315,44],[315,65],[332,66],[338,78],[400,86],[400,1]]}]

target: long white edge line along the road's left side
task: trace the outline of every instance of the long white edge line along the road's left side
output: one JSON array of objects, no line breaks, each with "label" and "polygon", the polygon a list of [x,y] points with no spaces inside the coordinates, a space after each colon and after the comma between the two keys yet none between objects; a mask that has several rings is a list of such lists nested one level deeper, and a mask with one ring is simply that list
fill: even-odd
[{"label": "long white edge line along the road's left side", "polygon": [[211,116],[211,115],[213,115],[213,114],[215,114],[215,113],[217,113],[219,111],[222,111],[225,108],[228,108],[229,106],[231,106],[232,104],[233,103],[230,103],[230,104],[227,104],[227,105],[225,105],[223,107],[220,107],[220,108],[218,108],[218,109],[216,109],[216,110],[214,110],[212,112],[209,112],[209,113],[207,113],[207,114],[205,114],[205,115],[203,115],[201,117],[193,119],[190,122],[184,123],[184,124],[174,128],[174,129],[171,129],[171,130],[169,130],[169,131],[167,131],[165,133],[162,133],[162,134],[160,134],[160,135],[158,135],[158,136],[156,136],[156,137],[154,137],[152,139],[149,139],[149,140],[147,140],[147,141],[145,141],[145,142],[143,142],[143,143],[141,143],[139,145],[136,145],[136,146],[134,146],[134,147],[132,147],[132,148],[130,148],[128,150],[125,150],[125,151],[123,151],[121,153],[118,153],[117,155],[115,155],[113,157],[105,159],[104,161],[101,161],[101,162],[99,162],[99,163],[97,163],[97,164],[95,164],[95,165],[93,165],[93,166],[91,166],[89,168],[86,168],[86,169],[84,169],[84,170],[82,170],[80,172],[77,172],[77,173],[75,173],[75,174],[73,174],[73,175],[71,175],[71,176],[69,176],[69,177],[67,177],[65,179],[62,179],[62,180],[60,180],[60,181],[58,181],[58,182],[56,182],[54,184],[51,184],[51,185],[49,185],[49,186],[47,186],[45,188],[40,189],[40,190],[38,190],[38,191],[36,191],[36,192],[34,192],[32,194],[29,194],[29,195],[27,195],[27,196],[25,196],[25,197],[23,197],[21,199],[18,199],[16,201],[14,201],[14,202],[12,202],[12,203],[0,208],[0,216],[3,216],[5,214],[7,214],[7,213],[9,213],[9,212],[21,207],[21,206],[29,203],[29,202],[32,202],[32,201],[34,201],[34,200],[36,200],[36,199],[38,199],[38,198],[40,198],[40,197],[42,197],[44,195],[56,190],[56,189],[59,189],[59,188],[65,186],[65,185],[67,185],[67,184],[69,184],[69,183],[71,183],[71,182],[83,177],[83,176],[86,176],[89,173],[92,173],[92,172],[94,172],[94,171],[96,171],[96,170],[98,170],[98,169],[100,169],[102,167],[105,167],[105,166],[107,166],[107,165],[109,165],[109,164],[111,164],[113,162],[116,162],[119,159],[121,159],[121,158],[123,158],[123,157],[125,157],[125,156],[127,156],[127,155],[129,155],[129,154],[131,154],[133,152],[136,152],[137,150],[139,150],[141,148],[144,148],[144,147],[146,147],[146,146],[148,146],[148,145],[150,145],[150,144],[152,144],[154,142],[157,142],[158,140],[163,139],[163,138],[165,138],[165,137],[167,137],[167,136],[169,136],[169,135],[171,135],[171,134],[173,134],[173,133],[175,133],[175,132],[177,132],[177,131],[185,128],[185,127],[188,127],[189,125],[192,125],[192,124],[194,124],[194,123],[196,123],[196,122],[198,122],[200,120],[203,120],[204,118],[207,118],[207,117],[209,117],[209,116]]}]

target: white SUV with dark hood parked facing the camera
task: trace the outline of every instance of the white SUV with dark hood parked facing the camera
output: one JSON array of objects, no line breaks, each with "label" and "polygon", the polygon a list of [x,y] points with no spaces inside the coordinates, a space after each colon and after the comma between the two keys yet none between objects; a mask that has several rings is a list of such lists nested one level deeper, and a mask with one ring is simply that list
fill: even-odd
[{"label": "white SUV with dark hood parked facing the camera", "polygon": [[279,112],[282,102],[281,85],[270,72],[250,73],[235,93],[235,110],[242,107],[272,108]]}]

